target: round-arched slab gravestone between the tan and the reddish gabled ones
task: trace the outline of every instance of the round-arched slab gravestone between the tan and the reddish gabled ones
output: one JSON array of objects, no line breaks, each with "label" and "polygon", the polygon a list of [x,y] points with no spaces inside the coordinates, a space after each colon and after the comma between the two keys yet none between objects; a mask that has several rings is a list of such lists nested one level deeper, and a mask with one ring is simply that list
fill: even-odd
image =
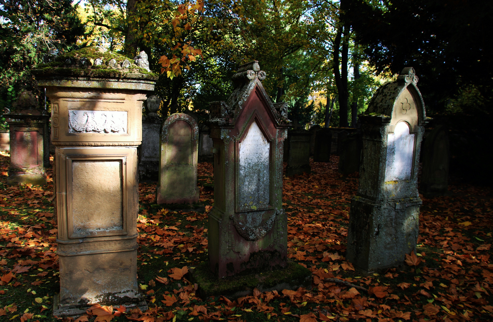
[{"label": "round-arched slab gravestone between the tan and the reddish gabled ones", "polygon": [[175,113],[161,129],[158,204],[192,204],[199,201],[197,158],[199,128],[190,115]]}]

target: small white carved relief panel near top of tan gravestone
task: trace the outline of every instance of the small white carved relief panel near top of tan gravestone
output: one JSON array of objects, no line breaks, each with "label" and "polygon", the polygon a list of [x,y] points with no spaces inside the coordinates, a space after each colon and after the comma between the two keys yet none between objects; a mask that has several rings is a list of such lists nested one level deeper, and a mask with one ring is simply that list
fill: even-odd
[{"label": "small white carved relief panel near top of tan gravestone", "polygon": [[69,133],[127,133],[127,112],[69,110]]}]

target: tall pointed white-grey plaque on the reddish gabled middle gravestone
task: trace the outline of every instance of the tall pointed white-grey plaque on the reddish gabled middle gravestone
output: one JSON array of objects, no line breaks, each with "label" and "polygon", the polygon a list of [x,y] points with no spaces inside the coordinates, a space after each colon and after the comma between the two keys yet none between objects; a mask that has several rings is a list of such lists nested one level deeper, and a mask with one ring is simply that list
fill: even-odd
[{"label": "tall pointed white-grey plaque on the reddish gabled middle gravestone", "polygon": [[270,198],[270,143],[254,121],[239,144],[238,200],[242,211],[265,209]]}]

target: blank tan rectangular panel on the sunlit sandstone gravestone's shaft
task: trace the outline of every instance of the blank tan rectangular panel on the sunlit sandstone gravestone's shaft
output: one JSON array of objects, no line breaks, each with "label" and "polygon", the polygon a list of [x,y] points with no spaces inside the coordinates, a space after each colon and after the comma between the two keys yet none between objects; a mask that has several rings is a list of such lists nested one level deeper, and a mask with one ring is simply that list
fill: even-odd
[{"label": "blank tan rectangular panel on the sunlit sandstone gravestone's shaft", "polygon": [[121,160],[73,160],[73,233],[123,229],[122,191]]}]

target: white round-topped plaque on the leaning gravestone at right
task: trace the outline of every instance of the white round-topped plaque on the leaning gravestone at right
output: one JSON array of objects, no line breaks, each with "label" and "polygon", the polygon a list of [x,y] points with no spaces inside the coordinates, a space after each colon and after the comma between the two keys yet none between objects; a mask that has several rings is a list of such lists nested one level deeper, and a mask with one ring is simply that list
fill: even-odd
[{"label": "white round-topped plaque on the leaning gravestone at right", "polygon": [[413,170],[414,134],[406,122],[399,122],[388,134],[385,181],[411,179]]}]

